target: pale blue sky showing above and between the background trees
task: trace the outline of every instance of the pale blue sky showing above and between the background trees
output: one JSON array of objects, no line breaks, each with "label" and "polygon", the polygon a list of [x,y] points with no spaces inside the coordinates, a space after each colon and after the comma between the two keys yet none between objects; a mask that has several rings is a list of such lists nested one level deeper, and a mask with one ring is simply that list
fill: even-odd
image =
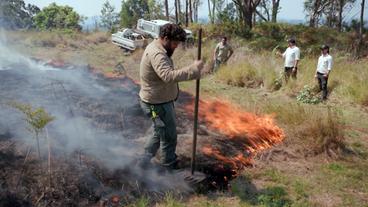
[{"label": "pale blue sky showing above and between the background trees", "polygon": [[[122,0],[109,0],[110,3],[115,6],[116,11],[120,11]],[[171,1],[171,4],[173,0]],[[231,2],[231,0],[225,0]],[[49,5],[52,2],[56,2],[59,5],[69,5],[73,7],[79,14],[86,17],[98,16],[101,13],[102,4],[105,0],[25,0],[26,3],[35,4],[40,8]],[[207,1],[202,1],[199,16],[206,18],[208,16]],[[303,9],[304,0],[281,0],[281,11],[278,18],[281,20],[305,20],[305,13]],[[360,2],[358,0],[358,2]],[[368,7],[368,5],[367,5]],[[367,8],[366,7],[366,8]],[[359,18],[359,7],[352,9],[351,15],[355,18]],[[368,11],[366,12],[365,19],[368,19]]]}]

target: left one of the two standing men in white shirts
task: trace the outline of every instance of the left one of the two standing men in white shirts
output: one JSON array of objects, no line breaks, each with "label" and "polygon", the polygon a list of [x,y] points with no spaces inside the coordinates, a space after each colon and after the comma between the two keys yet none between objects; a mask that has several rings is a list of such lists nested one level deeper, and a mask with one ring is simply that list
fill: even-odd
[{"label": "left one of the two standing men in white shirts", "polygon": [[300,60],[300,49],[296,46],[295,39],[288,40],[289,47],[282,54],[285,59],[285,81],[288,82],[290,76],[296,79],[298,72],[298,63]]}]

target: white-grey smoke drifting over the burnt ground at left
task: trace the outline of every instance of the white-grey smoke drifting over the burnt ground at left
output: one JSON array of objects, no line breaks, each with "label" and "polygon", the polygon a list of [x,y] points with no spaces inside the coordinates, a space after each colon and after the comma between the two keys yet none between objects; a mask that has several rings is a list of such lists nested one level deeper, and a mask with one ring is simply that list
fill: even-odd
[{"label": "white-grey smoke drifting over the burnt ground at left", "polygon": [[[64,155],[82,151],[110,169],[134,168],[136,176],[149,178],[145,181],[154,189],[187,190],[184,181],[175,176],[160,176],[155,170],[131,166],[143,146],[129,138],[137,138],[137,133],[143,137],[150,127],[149,120],[143,119],[137,108],[136,92],[134,87],[112,88],[86,69],[63,70],[34,61],[9,48],[4,33],[0,32],[0,135],[6,130],[34,146],[22,115],[6,103],[17,101],[44,107],[56,118],[47,126],[54,152]],[[90,117],[94,114],[97,117]],[[122,129],[99,129],[92,123],[99,119],[106,119],[103,121],[106,124],[121,121],[116,114],[124,119]],[[133,123],[135,118],[141,119],[141,123]],[[42,151],[46,153],[46,141],[42,143],[45,147]]]}]

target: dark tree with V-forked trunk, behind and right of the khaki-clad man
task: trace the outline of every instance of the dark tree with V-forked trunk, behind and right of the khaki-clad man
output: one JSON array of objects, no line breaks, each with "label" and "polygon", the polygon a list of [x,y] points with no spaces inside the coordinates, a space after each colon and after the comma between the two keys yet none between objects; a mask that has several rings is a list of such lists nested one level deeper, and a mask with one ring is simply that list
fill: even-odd
[{"label": "dark tree with V-forked trunk, behind and right of the khaki-clad man", "polygon": [[251,30],[253,27],[253,15],[261,0],[233,0],[238,13],[239,19],[243,22],[245,29]]}]

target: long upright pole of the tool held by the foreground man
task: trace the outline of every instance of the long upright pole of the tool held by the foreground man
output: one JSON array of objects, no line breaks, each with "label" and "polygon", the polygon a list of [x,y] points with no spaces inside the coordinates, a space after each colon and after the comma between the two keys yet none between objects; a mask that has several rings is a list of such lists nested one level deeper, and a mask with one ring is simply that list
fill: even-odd
[{"label": "long upright pole of the tool held by the foreground man", "polygon": [[[201,60],[202,52],[202,28],[198,31],[198,60]],[[191,160],[191,173],[194,174],[195,161],[196,161],[196,151],[197,151],[197,129],[198,129],[198,107],[199,107],[199,87],[200,78],[196,80],[196,96],[194,102],[194,126],[193,126],[193,148],[192,148],[192,160]]]}]

